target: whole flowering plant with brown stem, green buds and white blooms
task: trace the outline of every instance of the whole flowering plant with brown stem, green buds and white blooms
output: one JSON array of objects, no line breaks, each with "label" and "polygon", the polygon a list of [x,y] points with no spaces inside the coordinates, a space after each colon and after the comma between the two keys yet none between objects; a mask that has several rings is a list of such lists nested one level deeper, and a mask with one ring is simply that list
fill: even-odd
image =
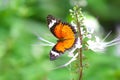
[{"label": "whole flowering plant with brown stem, green buds and white blooms", "polygon": [[[79,73],[79,80],[82,80],[83,75],[83,52],[87,50],[92,50],[94,52],[104,52],[105,49],[109,46],[116,45],[120,43],[120,38],[117,37],[112,41],[105,42],[105,39],[110,35],[108,33],[104,39],[100,39],[99,36],[94,34],[95,30],[93,27],[86,26],[84,23],[84,16],[81,11],[81,8],[75,6],[73,9],[70,9],[70,15],[72,17],[71,24],[77,31],[77,42],[72,48],[71,51],[68,52],[68,56],[72,57],[66,64],[56,67],[54,69],[66,67],[71,64],[73,61],[76,61],[76,65],[78,65],[75,69],[77,70],[77,75]],[[54,46],[55,44],[42,38],[38,37],[41,40],[42,46]],[[74,67],[74,66],[73,66]]]}]

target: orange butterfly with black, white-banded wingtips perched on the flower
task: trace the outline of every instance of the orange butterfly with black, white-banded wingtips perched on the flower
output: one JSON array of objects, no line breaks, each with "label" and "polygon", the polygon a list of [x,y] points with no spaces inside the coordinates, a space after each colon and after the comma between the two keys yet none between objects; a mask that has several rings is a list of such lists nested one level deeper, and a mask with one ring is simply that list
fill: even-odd
[{"label": "orange butterfly with black, white-banded wingtips perched on the flower", "polygon": [[72,25],[56,19],[52,15],[47,16],[47,23],[52,34],[58,39],[50,51],[50,60],[57,59],[68,49],[71,49],[76,42],[76,30]]}]

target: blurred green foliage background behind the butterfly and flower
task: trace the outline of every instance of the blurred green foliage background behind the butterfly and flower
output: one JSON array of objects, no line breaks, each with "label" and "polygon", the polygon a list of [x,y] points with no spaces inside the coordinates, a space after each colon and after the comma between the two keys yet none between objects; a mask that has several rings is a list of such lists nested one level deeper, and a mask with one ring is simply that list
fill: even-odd
[{"label": "blurred green foliage background behind the butterfly and flower", "polygon": [[[75,3],[98,20],[105,33],[113,31],[110,39],[119,34],[120,0],[0,0],[0,80],[74,80],[70,66],[50,70],[64,64],[67,55],[50,61],[51,47],[40,46],[35,33],[56,42],[46,16],[68,21]],[[83,80],[120,80],[119,47],[109,47],[104,54],[85,52]]]}]

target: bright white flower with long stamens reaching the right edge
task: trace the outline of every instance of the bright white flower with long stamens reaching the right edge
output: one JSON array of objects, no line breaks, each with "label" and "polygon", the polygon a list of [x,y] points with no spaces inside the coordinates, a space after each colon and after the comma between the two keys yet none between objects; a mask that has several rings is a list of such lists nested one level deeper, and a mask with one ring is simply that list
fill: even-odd
[{"label": "bright white flower with long stamens reaching the right edge", "polygon": [[116,45],[120,43],[120,37],[117,37],[109,42],[104,42],[104,40],[100,40],[99,37],[95,36],[95,40],[88,40],[88,49],[91,49],[94,52],[104,52],[107,47]]}]

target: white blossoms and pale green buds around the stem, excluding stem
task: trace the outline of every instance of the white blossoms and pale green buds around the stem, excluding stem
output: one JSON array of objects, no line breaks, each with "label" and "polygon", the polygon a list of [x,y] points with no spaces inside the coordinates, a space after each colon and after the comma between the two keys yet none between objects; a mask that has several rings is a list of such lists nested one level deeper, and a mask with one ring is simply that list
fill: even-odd
[{"label": "white blossoms and pale green buds around the stem, excluding stem", "polygon": [[[82,42],[84,43],[81,44],[80,38],[78,37],[74,48],[72,48],[71,51],[68,52],[68,56],[72,57],[71,60],[69,60],[66,64],[59,66],[57,68],[68,66],[71,62],[75,61],[76,57],[78,56],[78,52],[75,53],[75,51],[78,48],[79,49],[87,48],[88,50],[92,50],[94,52],[104,52],[107,47],[120,43],[119,37],[113,39],[112,41],[105,42],[105,39],[110,35],[111,32],[108,33],[104,39],[100,39],[99,36],[95,35],[95,27],[97,27],[96,24],[94,24],[92,20],[90,21],[90,20],[85,19],[83,17],[83,13],[80,8],[77,11],[76,9],[77,9],[76,7],[74,7],[73,10],[70,9],[70,15],[72,17],[71,25],[73,25],[76,31],[78,31],[77,22],[79,22],[80,31],[82,35]],[[39,40],[43,42],[41,43],[41,45],[43,46],[54,46],[55,45],[54,43],[42,37],[39,37]]]}]

